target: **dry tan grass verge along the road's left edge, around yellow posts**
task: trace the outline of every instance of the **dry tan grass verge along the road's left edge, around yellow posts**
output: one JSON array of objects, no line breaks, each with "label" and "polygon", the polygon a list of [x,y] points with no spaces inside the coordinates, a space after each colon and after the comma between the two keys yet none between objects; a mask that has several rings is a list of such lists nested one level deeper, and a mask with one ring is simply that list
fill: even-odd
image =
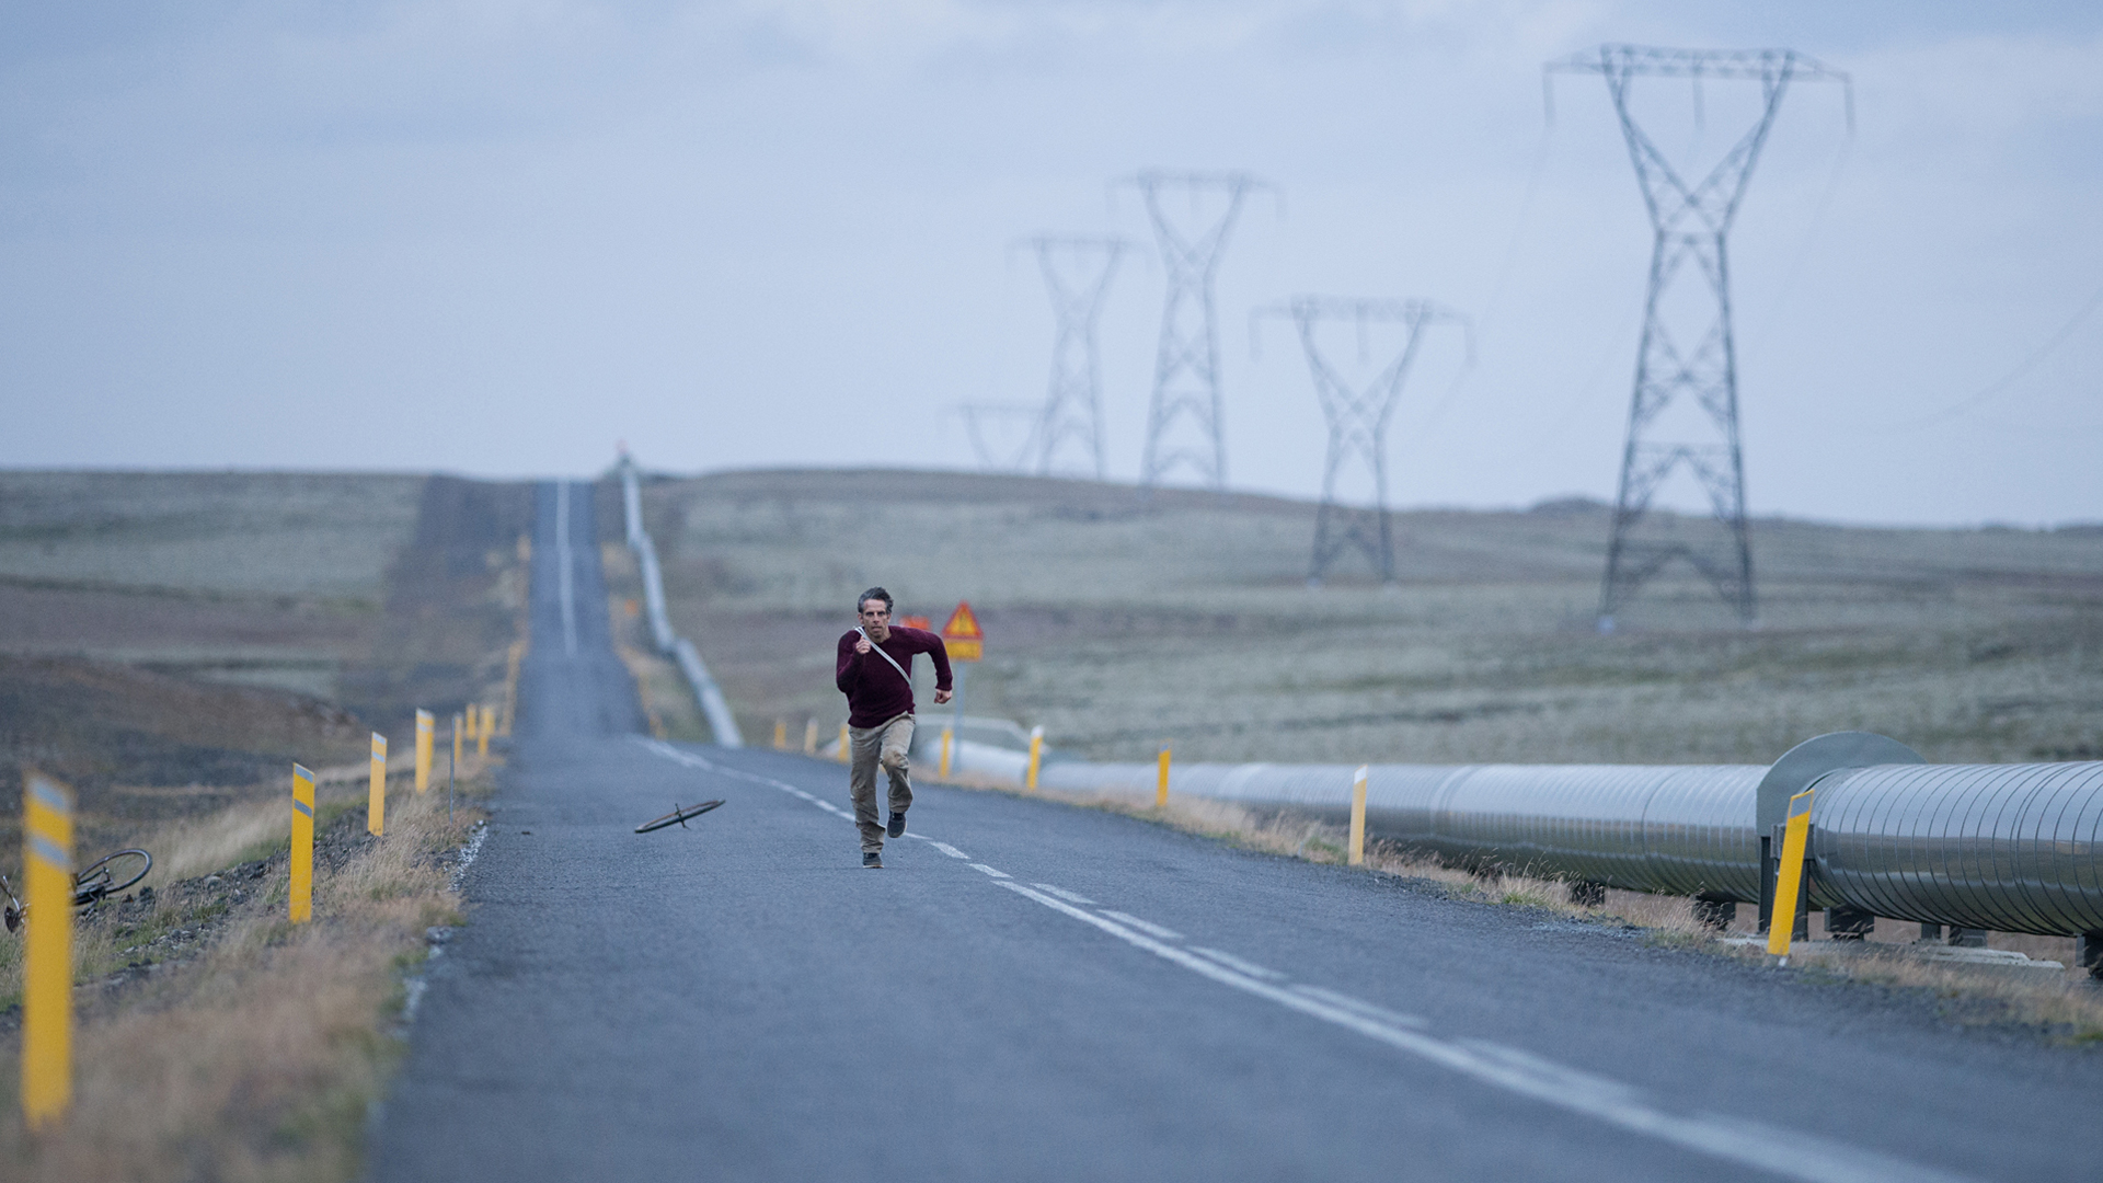
[{"label": "dry tan grass verge along the road's left edge, around yellow posts", "polygon": [[[465,787],[486,794],[486,770]],[[355,1175],[366,1107],[400,1055],[389,1029],[402,968],[423,958],[429,926],[458,922],[444,853],[475,815],[463,810],[448,825],[442,791],[389,794],[387,836],[370,840],[360,787],[334,781],[322,810],[334,821],[318,853],[315,922],[292,926],[280,804],[183,823],[170,846],[170,863],[215,869],[212,853],[252,857],[257,842],[273,844],[267,871],[240,899],[185,880],[158,893],[145,922],[120,928],[105,914],[82,924],[76,1103],[63,1128],[29,1139],[15,1076],[0,1078],[0,1160],[13,1164],[11,1179]],[[210,937],[154,973],[122,968],[151,956],[156,933],[198,926]],[[111,970],[116,981],[103,979]],[[0,973],[19,989],[19,964]],[[15,1055],[11,1034],[0,1057]]]}]

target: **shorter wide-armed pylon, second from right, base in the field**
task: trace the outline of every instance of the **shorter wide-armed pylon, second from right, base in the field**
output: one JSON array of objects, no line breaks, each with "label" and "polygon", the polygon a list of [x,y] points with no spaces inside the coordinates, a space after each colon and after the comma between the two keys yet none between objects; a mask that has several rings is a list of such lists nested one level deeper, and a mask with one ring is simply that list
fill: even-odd
[{"label": "shorter wide-armed pylon, second from right, base in the field", "polygon": [[[1314,562],[1308,585],[1319,587],[1329,566],[1350,547],[1365,554],[1382,583],[1394,583],[1394,530],[1388,522],[1388,421],[1403,396],[1409,364],[1417,358],[1424,328],[1459,324],[1468,333],[1468,356],[1474,358],[1474,330],[1468,318],[1430,301],[1411,299],[1338,299],[1293,297],[1283,307],[1258,309],[1255,316],[1291,316],[1300,326],[1300,347],[1314,379],[1314,398],[1329,419],[1329,459],[1321,474],[1321,507],[1314,512]],[[1365,358],[1365,328],[1375,322],[1398,322],[1409,330],[1401,354],[1363,389],[1346,379],[1327,358],[1314,330],[1323,320],[1352,320],[1359,326],[1359,356]],[[1253,322],[1253,316],[1251,316]],[[1338,497],[1338,476],[1359,461],[1373,478],[1373,503],[1356,505]]]}]

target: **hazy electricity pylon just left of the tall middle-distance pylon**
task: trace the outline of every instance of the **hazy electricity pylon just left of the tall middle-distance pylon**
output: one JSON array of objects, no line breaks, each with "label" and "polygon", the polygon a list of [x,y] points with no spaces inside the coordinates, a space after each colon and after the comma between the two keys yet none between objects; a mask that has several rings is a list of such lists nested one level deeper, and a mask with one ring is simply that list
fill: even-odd
[{"label": "hazy electricity pylon just left of the tall middle-distance pylon", "polygon": [[1043,417],[1037,421],[1037,472],[1052,476],[1060,448],[1079,444],[1083,461],[1104,478],[1102,465],[1102,362],[1096,349],[1096,316],[1102,295],[1117,274],[1117,257],[1129,246],[1123,238],[1060,238],[1041,234],[1028,240],[1037,250],[1037,267],[1052,297],[1052,318],[1058,335],[1052,341],[1052,383]]}]

